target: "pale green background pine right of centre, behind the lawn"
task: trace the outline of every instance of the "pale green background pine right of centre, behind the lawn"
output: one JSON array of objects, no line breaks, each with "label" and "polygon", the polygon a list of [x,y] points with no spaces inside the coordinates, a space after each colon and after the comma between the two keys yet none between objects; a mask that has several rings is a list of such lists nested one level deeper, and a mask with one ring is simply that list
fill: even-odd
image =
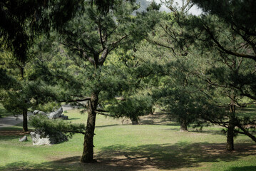
[{"label": "pale green background pine right of centre, behind the lawn", "polygon": [[180,8],[174,6],[173,1],[165,2],[165,5],[173,12],[163,14],[162,21],[146,38],[149,43],[158,48],[158,51],[160,48],[163,49],[163,53],[153,56],[161,56],[162,63],[167,63],[161,64],[163,69],[158,73],[163,77],[159,81],[160,84],[165,85],[161,88],[163,92],[157,90],[155,95],[159,96],[162,105],[171,113],[172,118],[180,122],[180,130],[187,131],[188,125],[198,118],[194,112],[199,106],[199,102],[196,103],[198,95],[193,93],[199,91],[195,86],[197,80],[188,72],[198,63],[191,57],[195,55],[193,44],[184,38],[186,30],[182,26],[183,21],[190,18],[188,10],[192,5],[190,1],[183,2]]}]

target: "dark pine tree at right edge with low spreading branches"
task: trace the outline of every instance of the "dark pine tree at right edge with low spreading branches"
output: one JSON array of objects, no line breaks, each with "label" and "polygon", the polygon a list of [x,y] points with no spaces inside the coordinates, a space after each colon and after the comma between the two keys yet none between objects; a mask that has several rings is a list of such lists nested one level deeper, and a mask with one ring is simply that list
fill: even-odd
[{"label": "dark pine tree at right edge with low spreading branches", "polygon": [[[255,137],[245,129],[245,125],[255,123],[255,119],[236,115],[237,107],[246,106],[246,97],[250,99],[249,103],[255,102],[255,61],[249,57],[253,56],[252,43],[243,37],[245,34],[237,33],[234,26],[217,16],[195,17],[186,24],[188,40],[193,38],[200,55],[208,58],[208,63],[205,63],[208,69],[205,73],[197,71],[196,75],[214,89],[215,105],[229,108],[229,112],[220,113],[219,117],[208,115],[205,119],[227,128],[227,150],[234,150],[235,133],[248,135],[255,141]],[[236,126],[240,130],[235,129]]]}]

